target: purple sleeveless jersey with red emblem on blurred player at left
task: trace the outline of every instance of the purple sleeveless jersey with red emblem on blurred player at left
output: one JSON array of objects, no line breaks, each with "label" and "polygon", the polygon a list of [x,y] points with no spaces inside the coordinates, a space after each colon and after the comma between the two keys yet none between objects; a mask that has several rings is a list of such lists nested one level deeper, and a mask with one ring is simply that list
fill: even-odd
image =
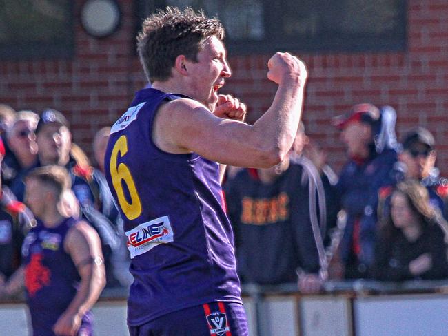
[{"label": "purple sleeveless jersey with red emblem on blurred player at left", "polygon": [[[76,222],[67,218],[48,228],[38,220],[23,241],[26,300],[34,336],[54,335],[54,324],[77,294],[81,277],[63,248],[65,236]],[[79,335],[92,335],[92,321],[89,312],[82,319]]]}]

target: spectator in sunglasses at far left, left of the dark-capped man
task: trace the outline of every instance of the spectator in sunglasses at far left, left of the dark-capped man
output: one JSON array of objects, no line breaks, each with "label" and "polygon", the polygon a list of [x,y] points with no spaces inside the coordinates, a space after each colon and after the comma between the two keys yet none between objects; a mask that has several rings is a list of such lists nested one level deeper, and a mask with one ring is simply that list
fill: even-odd
[{"label": "spectator in sunglasses at far left, left of the dark-capped man", "polygon": [[2,178],[20,201],[23,201],[25,192],[23,178],[39,165],[34,134],[38,121],[39,116],[32,111],[17,112],[14,123],[6,132],[10,153],[3,160]]}]

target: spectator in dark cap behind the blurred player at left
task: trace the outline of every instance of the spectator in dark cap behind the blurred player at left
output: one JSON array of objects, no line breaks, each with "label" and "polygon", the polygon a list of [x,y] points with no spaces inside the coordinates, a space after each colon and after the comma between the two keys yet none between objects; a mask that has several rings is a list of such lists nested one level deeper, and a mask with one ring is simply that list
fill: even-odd
[{"label": "spectator in dark cap behind the blurred player at left", "polygon": [[[119,285],[113,275],[111,258],[119,249],[118,229],[101,211],[101,182],[81,148],[72,144],[68,120],[61,112],[46,109],[37,124],[36,135],[41,165],[60,165],[68,169],[72,191],[79,201],[81,215],[96,229],[101,238],[108,286]],[[103,182],[104,183],[104,182]]]}]

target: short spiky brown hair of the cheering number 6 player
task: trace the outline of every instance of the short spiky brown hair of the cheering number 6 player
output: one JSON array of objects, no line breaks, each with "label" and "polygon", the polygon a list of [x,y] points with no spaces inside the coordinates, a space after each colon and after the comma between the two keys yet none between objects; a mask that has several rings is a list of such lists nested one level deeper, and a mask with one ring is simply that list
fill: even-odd
[{"label": "short spiky brown hair of the cheering number 6 player", "polygon": [[167,81],[179,55],[197,62],[197,54],[210,36],[224,39],[221,21],[191,7],[181,11],[168,6],[147,17],[137,36],[137,50],[148,80]]}]

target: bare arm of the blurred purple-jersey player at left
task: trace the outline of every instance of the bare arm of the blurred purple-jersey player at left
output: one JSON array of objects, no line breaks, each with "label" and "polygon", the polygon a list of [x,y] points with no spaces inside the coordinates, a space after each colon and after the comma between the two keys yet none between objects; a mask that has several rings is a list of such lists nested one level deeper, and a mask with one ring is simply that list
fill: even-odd
[{"label": "bare arm of the blurred purple-jersey player at left", "polygon": [[98,300],[105,286],[105,270],[99,236],[86,222],[68,232],[64,245],[77,266],[81,283],[77,295],[54,325],[57,335],[76,335],[81,318]]}]

